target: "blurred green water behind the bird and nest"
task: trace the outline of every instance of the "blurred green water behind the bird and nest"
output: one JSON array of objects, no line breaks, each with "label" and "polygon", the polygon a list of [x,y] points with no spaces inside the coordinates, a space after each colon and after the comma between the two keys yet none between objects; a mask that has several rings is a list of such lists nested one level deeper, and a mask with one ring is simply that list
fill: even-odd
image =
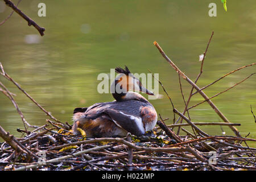
[{"label": "blurred green water behind the bird and nest", "polygon": [[[13,0],[16,4],[18,1]],[[38,4],[46,4],[46,17],[38,16]],[[217,5],[217,16],[210,17],[209,3]],[[21,1],[18,8],[39,26],[46,28],[40,36],[34,27],[14,13],[0,26],[0,61],[5,71],[39,104],[61,121],[72,123],[73,109],[96,102],[112,101],[112,94],[97,92],[100,73],[127,65],[133,73],[159,73],[159,79],[172,97],[175,107],[183,111],[184,103],[177,73],[160,55],[157,41],[174,63],[195,81],[200,71],[199,55],[204,53],[212,31],[214,35],[204,62],[204,72],[197,84],[203,87],[243,65],[255,63],[256,2],[228,1],[225,12],[220,1]],[[0,21],[11,13],[0,1]],[[255,66],[242,69],[205,89],[211,97],[256,71]],[[13,83],[0,77],[13,93],[24,117],[31,125],[42,126],[48,118]],[[214,104],[237,126],[240,134],[256,138],[255,75],[235,88],[213,98]],[[191,86],[182,81],[185,99]],[[159,86],[163,98],[151,100],[163,118],[173,113],[170,101]],[[144,94],[143,94],[144,96]],[[192,97],[190,106],[202,101]],[[205,102],[190,110],[193,122],[222,122]],[[183,121],[184,122],[184,121]],[[24,129],[15,107],[0,93],[0,125],[16,137]],[[191,127],[186,127],[191,131]],[[208,134],[222,135],[220,126],[201,126]],[[233,135],[228,126],[226,135]]]}]

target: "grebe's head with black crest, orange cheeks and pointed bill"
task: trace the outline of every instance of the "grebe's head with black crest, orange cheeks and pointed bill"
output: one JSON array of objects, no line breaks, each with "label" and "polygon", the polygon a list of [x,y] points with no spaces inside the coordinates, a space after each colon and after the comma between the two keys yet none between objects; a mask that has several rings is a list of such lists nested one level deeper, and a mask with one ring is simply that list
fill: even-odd
[{"label": "grebe's head with black crest, orange cheeks and pointed bill", "polygon": [[111,85],[113,97],[115,98],[115,100],[138,100],[137,98],[140,97],[141,94],[129,92],[129,90],[139,91],[154,96],[154,93],[147,90],[142,85],[141,81],[136,78],[126,66],[125,69],[120,67],[115,68],[115,72],[119,73],[117,77],[115,77],[115,80]]}]

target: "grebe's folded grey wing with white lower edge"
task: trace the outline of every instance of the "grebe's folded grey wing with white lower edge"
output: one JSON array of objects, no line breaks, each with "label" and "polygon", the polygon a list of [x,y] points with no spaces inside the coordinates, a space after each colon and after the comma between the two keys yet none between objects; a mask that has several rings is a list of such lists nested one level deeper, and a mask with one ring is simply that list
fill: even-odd
[{"label": "grebe's folded grey wing with white lower edge", "polygon": [[115,109],[105,109],[104,113],[108,114],[115,125],[125,129],[127,132],[130,132],[133,135],[140,136],[145,133],[141,117],[126,114]]}]

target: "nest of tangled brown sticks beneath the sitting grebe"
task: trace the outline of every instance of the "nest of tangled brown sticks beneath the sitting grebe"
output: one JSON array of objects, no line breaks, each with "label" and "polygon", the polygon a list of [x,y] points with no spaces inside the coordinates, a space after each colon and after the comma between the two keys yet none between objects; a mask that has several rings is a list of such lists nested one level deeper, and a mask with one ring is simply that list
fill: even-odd
[{"label": "nest of tangled brown sticks beneath the sitting grebe", "polygon": [[[162,119],[159,114],[160,119],[155,129],[141,137],[129,133],[124,138],[88,138],[83,130],[80,130],[80,136],[74,136],[69,123],[59,121],[38,104],[5,72],[0,63],[0,74],[13,82],[49,117],[43,126],[30,125],[14,99],[15,94],[0,82],[0,91],[10,99],[24,123],[23,130],[17,129],[22,133],[21,138],[14,137],[0,126],[0,137],[5,140],[0,143],[0,170],[255,170],[256,148],[250,147],[247,141],[255,142],[256,139],[248,138],[249,134],[242,137],[236,128],[240,126],[240,123],[229,122],[211,101],[213,97],[232,89],[254,73],[212,97],[208,97],[203,90],[222,78],[256,63],[238,68],[211,84],[199,88],[196,82],[203,73],[204,58],[212,36],[213,32],[201,57],[200,73],[195,82],[181,72],[159,44],[154,42],[164,59],[179,75],[180,91],[185,108],[182,113],[175,108],[171,96],[164,89],[162,82],[158,80],[171,102],[174,124],[167,126],[164,123],[166,119]],[[182,91],[181,78],[192,86],[187,101]],[[189,109],[199,104],[190,107],[188,105],[191,97],[196,93],[204,98],[199,104],[208,102],[224,122],[196,123],[191,120]],[[251,113],[255,119],[252,108]],[[201,125],[229,126],[234,136],[209,135],[200,129]],[[186,130],[185,126],[191,127],[193,132]],[[175,127],[178,128],[176,133]],[[29,131],[28,128],[32,130]],[[180,130],[184,131],[185,135],[180,135]]]}]

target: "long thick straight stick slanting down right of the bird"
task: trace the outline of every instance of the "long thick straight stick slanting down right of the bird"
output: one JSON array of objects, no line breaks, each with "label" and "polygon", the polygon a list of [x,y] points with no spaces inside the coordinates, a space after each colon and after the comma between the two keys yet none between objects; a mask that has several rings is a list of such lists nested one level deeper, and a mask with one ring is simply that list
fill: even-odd
[{"label": "long thick straight stick slanting down right of the bird", "polygon": [[[166,53],[164,53],[163,49],[159,46],[159,44],[157,42],[154,42],[154,45],[156,46],[156,48],[158,48],[159,52],[162,54],[162,56],[164,57],[164,59],[166,59],[168,61],[168,63],[172,66],[172,68],[175,69],[175,71],[177,73],[179,73],[189,84],[191,84],[196,90],[200,90],[199,86],[197,86],[192,80],[190,80],[183,72],[180,71],[179,68],[176,67],[176,65],[170,60],[170,58],[166,55]],[[201,94],[201,96],[204,97],[205,100],[207,100],[208,104],[213,108],[213,110],[220,116],[220,118],[227,123],[230,123],[228,118],[225,117],[224,114],[221,113],[221,111],[217,108],[216,105],[213,104],[213,102],[211,100],[209,100],[209,97],[201,90],[199,91],[199,93]],[[229,126],[230,129],[232,129],[232,131],[238,136],[240,137],[240,133],[239,131],[236,129],[236,127],[234,126]]]}]

